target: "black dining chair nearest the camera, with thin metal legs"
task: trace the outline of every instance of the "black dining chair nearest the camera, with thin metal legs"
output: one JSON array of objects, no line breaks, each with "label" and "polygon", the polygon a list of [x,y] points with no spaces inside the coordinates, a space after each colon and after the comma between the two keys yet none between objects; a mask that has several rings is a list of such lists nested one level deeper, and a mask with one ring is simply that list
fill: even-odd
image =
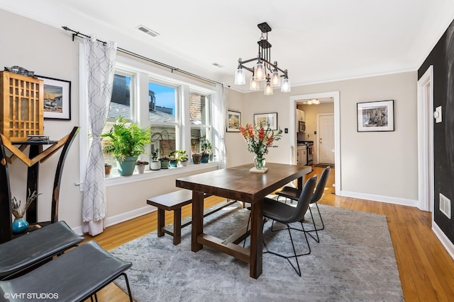
[{"label": "black dining chair nearest the camera, with thin metal legs", "polygon": [[[306,184],[304,185],[303,190],[299,195],[297,207],[292,207],[289,206],[288,204],[283,204],[282,202],[277,202],[276,200],[270,198],[265,198],[263,200],[263,216],[268,219],[272,219],[272,223],[277,221],[287,226],[287,231],[289,231],[290,241],[292,242],[293,248],[293,255],[286,256],[279,254],[278,252],[272,252],[271,250],[268,250],[264,241],[263,245],[265,246],[266,250],[265,253],[268,252],[272,255],[277,255],[279,257],[287,259],[287,261],[290,263],[290,265],[292,265],[293,269],[295,270],[295,272],[297,272],[299,277],[301,277],[301,269],[299,268],[298,257],[303,255],[309,255],[311,253],[311,246],[309,245],[309,240],[307,240],[303,223],[301,223],[301,227],[303,228],[302,231],[304,233],[304,238],[306,238],[306,243],[309,251],[297,255],[297,251],[295,250],[295,245],[293,242],[291,232],[293,228],[290,226],[290,223],[300,222],[304,219],[304,214],[306,214],[306,211],[309,208],[309,203],[311,202],[311,199],[314,196],[316,182],[317,176],[309,178],[309,180],[306,181]],[[283,231],[284,229],[285,228],[282,228],[277,231]],[[290,258],[295,258],[295,260],[297,261],[297,267],[293,265],[293,263],[290,261]]]}]

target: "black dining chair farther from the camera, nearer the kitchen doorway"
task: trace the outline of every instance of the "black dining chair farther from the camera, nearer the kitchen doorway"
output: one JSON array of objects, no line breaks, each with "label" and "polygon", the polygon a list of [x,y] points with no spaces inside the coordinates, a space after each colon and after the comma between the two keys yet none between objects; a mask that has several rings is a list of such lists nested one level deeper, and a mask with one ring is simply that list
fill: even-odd
[{"label": "black dining chair farther from the camera, nearer the kitchen doorway", "polygon": [[[322,231],[325,228],[325,224],[323,223],[323,219],[321,218],[320,209],[319,209],[319,205],[317,204],[317,202],[323,196],[323,192],[324,192],[325,187],[326,187],[326,182],[328,182],[328,176],[329,176],[330,172],[331,172],[331,167],[329,165],[328,165],[328,167],[323,169],[323,172],[321,173],[321,177],[320,177],[320,180],[319,180],[319,184],[317,185],[317,188],[316,188],[316,190],[314,192],[314,196],[312,197],[312,200],[311,200],[311,204],[315,204],[316,208],[317,208],[317,211],[319,211],[319,216],[320,216],[320,221],[321,221],[321,228],[317,228],[317,226],[315,224],[314,216],[312,214],[311,207],[309,207],[309,213],[311,213],[312,223],[314,223],[314,229],[306,231],[306,233],[309,233],[309,236],[311,236],[318,243],[320,242],[319,232],[318,231]],[[277,192],[276,194],[277,194],[277,199],[278,200],[279,200],[279,197],[285,197],[285,198],[290,199],[292,201],[298,201],[299,195],[301,195],[301,190],[298,190],[297,188],[294,188],[294,187],[286,186],[286,187],[283,187],[282,190]],[[312,232],[316,233],[316,237],[314,237],[311,234]]]}]

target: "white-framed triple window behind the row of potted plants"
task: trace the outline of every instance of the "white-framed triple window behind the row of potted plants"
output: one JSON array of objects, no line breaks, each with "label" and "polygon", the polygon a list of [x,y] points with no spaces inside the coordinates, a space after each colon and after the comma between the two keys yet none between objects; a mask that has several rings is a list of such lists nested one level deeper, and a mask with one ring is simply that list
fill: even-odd
[{"label": "white-framed triple window behind the row of potted plants", "polygon": [[[145,76],[148,86],[139,84],[144,83],[141,79]],[[148,153],[157,150],[158,156],[164,157],[175,149],[185,149],[191,158],[192,153],[200,153],[202,141],[211,139],[211,93],[214,91],[204,91],[181,80],[172,82],[168,77],[161,79],[152,73],[128,71],[123,66],[114,76],[104,132],[108,132],[121,115],[140,127],[151,126],[152,144]],[[147,115],[148,120],[144,120]],[[149,154],[144,156],[145,159]],[[115,158],[104,155],[104,160],[113,166],[109,177],[116,177]]]}]

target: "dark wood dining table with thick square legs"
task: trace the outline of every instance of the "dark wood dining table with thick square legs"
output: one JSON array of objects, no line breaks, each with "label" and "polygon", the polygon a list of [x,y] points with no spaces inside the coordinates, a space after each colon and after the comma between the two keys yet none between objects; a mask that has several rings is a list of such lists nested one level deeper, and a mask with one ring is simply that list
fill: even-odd
[{"label": "dark wood dining table with thick square legs", "polygon": [[[307,165],[267,163],[267,173],[251,173],[252,164],[214,170],[176,180],[177,187],[192,190],[191,250],[197,252],[204,245],[238,258],[250,265],[250,277],[262,274],[263,199],[275,190],[298,180],[303,185],[304,175],[311,172]],[[221,239],[204,233],[204,194],[236,199],[251,204],[250,248],[238,245],[245,238],[245,228]]]}]

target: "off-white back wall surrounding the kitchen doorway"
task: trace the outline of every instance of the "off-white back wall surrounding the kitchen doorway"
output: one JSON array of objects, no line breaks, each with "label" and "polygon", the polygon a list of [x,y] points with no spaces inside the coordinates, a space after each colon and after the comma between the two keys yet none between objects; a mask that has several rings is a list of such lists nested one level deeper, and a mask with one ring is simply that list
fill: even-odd
[{"label": "off-white back wall surrounding the kitchen doorway", "polygon": [[[254,113],[278,112],[282,129],[290,124],[292,95],[339,91],[341,95],[341,191],[344,196],[415,204],[417,190],[416,71],[292,87],[291,93],[247,93],[243,124]],[[357,132],[356,104],[394,100],[394,132]],[[284,134],[267,161],[287,163],[292,137]],[[253,156],[250,156],[252,158]]]}]

